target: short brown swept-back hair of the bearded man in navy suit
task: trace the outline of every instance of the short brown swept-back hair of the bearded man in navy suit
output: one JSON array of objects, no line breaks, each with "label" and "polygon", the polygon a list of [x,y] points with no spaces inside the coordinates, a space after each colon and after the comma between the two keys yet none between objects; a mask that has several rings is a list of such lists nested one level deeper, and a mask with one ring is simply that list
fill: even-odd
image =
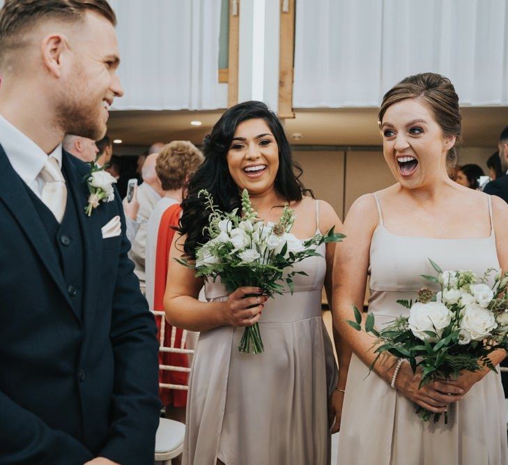
[{"label": "short brown swept-back hair of the bearded man in navy suit", "polygon": [[22,47],[22,34],[46,19],[82,20],[95,11],[116,26],[116,15],[107,0],[5,0],[0,9],[0,63],[6,54]]}]

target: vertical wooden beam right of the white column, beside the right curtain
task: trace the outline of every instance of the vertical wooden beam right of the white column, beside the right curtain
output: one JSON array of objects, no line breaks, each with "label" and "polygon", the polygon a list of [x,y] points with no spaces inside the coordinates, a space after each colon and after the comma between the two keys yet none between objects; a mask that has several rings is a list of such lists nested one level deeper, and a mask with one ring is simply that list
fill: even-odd
[{"label": "vertical wooden beam right of the white column, beside the right curtain", "polygon": [[[284,11],[284,3],[288,11]],[[280,0],[279,117],[294,118],[293,61],[295,53],[295,0]]]}]

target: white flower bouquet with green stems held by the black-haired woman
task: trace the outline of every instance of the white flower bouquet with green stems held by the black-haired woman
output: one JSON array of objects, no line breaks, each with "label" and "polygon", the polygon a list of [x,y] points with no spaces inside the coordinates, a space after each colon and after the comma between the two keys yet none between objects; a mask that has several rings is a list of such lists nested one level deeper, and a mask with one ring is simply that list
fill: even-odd
[{"label": "white flower bouquet with green stems held by the black-haired woman", "polygon": [[[201,190],[201,195],[206,197],[206,208],[210,211],[209,224],[205,228],[210,241],[197,247],[195,263],[178,262],[195,268],[196,276],[213,282],[220,277],[228,292],[252,286],[273,297],[282,294],[285,282],[293,293],[292,278],[306,273],[290,269],[307,257],[321,257],[316,252],[319,245],[344,238],[332,228],[324,235],[316,234],[307,241],[300,241],[290,232],[295,221],[295,212],[291,208],[284,207],[277,224],[265,223],[257,218],[247,190],[242,193],[241,217],[238,208],[231,213],[220,211],[207,190]],[[249,353],[251,347],[254,353],[264,351],[258,323],[245,328],[238,349]]]}]

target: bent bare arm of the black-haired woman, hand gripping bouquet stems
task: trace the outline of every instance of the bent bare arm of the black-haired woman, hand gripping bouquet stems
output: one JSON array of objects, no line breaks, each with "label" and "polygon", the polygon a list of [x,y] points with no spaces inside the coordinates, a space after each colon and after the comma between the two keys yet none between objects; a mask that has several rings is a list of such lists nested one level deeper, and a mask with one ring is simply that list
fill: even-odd
[{"label": "bent bare arm of the black-haired woman, hand gripping bouquet stems", "polygon": [[[219,326],[252,326],[261,318],[265,296],[255,287],[240,287],[224,302],[200,302],[203,280],[194,276],[194,269],[180,265],[185,236],[175,234],[169,253],[169,273],[164,292],[164,312],[171,326],[191,331],[206,331]],[[252,308],[249,308],[252,307]]]}]

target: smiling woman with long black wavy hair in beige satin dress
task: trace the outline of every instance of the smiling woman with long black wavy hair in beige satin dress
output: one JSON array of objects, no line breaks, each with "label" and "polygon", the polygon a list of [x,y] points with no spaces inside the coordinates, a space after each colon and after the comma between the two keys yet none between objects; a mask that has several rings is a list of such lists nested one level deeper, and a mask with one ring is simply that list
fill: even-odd
[{"label": "smiling woman with long black wavy hair in beige satin dress", "polygon": [[[262,102],[227,110],[203,152],[205,162],[187,186],[171,259],[194,259],[197,245],[208,239],[201,189],[222,211],[240,208],[240,192],[247,189],[259,217],[270,222],[289,204],[298,238],[341,227],[330,205],[304,195],[309,191],[299,180],[302,170],[282,125]],[[285,289],[269,300],[251,287],[228,295],[220,282],[203,283],[194,270],[171,264],[167,320],[201,331],[187,401],[184,464],[330,463],[330,427],[340,416],[343,393],[334,389],[337,367],[321,316],[321,291],[324,284],[331,301],[334,250],[332,243],[320,245],[322,257],[293,268],[307,273],[294,277],[294,294]],[[206,303],[197,300],[203,284]],[[244,298],[247,294],[259,296]],[[240,353],[244,328],[256,321],[265,351]]]}]

